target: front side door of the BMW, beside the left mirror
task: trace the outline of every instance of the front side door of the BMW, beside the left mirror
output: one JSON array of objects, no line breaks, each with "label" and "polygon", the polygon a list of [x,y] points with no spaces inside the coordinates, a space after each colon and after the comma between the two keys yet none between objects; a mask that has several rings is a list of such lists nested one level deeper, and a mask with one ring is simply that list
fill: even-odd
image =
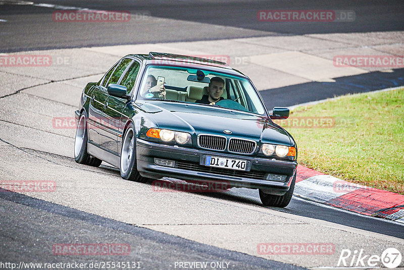
[{"label": "front side door of the BMW, beside the left mirror", "polygon": [[[121,77],[126,74],[125,72],[129,69],[133,61],[134,60],[131,58],[122,59],[112,73],[107,85],[110,85],[111,83],[118,84],[121,81]],[[108,86],[106,87],[108,88]],[[110,151],[114,154],[117,153],[117,122],[120,120],[120,113],[122,112],[126,101],[126,99],[111,98],[107,92],[107,96],[103,104],[103,115],[99,128],[99,145],[104,150]]]}]

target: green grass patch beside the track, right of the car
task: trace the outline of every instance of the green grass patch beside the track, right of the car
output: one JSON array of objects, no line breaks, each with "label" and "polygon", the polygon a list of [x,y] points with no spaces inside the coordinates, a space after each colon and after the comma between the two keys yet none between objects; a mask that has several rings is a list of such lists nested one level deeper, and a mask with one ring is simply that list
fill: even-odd
[{"label": "green grass patch beside the track, right of the car", "polygon": [[290,114],[300,121],[319,116],[333,117],[335,125],[296,128],[277,121],[297,142],[299,164],[404,194],[404,88],[343,96]]}]

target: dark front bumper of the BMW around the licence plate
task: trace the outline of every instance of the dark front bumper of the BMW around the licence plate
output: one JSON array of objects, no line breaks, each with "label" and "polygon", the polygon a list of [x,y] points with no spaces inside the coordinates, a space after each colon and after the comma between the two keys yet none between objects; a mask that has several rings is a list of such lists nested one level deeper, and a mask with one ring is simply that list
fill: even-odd
[{"label": "dark front bumper of the BMW around the licence plate", "polygon": [[[207,155],[243,159],[247,161],[246,173],[244,176],[232,176],[198,171],[197,169],[178,168],[179,163],[189,163],[192,168],[204,168]],[[176,161],[176,167],[166,167],[156,165],[154,158],[163,158]],[[174,177],[185,181],[202,181],[204,183],[226,183],[229,187],[264,189],[266,193],[283,195],[289,190],[293,175],[296,171],[297,163],[279,160],[269,160],[264,158],[248,157],[219,153],[209,150],[199,150],[193,148],[174,147],[157,144],[153,142],[136,140],[137,170],[142,176],[151,178]],[[210,167],[208,167],[210,168]],[[233,171],[233,170],[228,170]],[[256,179],[248,177],[248,172],[267,172],[287,175],[285,181],[269,181],[267,179]],[[254,173],[251,173],[253,175]]]}]

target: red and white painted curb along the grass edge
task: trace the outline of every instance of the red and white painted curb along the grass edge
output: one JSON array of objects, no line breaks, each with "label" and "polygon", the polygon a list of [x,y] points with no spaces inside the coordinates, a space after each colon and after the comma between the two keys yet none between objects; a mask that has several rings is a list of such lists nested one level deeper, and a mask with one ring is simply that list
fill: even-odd
[{"label": "red and white painted curb along the grass edge", "polygon": [[301,165],[297,166],[293,195],[404,223],[404,195],[345,182]]}]

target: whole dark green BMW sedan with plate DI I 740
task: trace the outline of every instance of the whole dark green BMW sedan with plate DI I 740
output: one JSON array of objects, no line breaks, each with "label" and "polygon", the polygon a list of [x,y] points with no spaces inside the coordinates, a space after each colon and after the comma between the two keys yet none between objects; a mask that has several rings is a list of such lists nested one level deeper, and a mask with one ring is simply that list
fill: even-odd
[{"label": "whole dark green BMW sedan with plate DI I 740", "polygon": [[86,85],[75,112],[78,163],[105,161],[138,182],[174,177],[199,185],[259,189],[285,207],[294,190],[297,148],[252,84],[226,63],[149,53],[119,60]]}]

